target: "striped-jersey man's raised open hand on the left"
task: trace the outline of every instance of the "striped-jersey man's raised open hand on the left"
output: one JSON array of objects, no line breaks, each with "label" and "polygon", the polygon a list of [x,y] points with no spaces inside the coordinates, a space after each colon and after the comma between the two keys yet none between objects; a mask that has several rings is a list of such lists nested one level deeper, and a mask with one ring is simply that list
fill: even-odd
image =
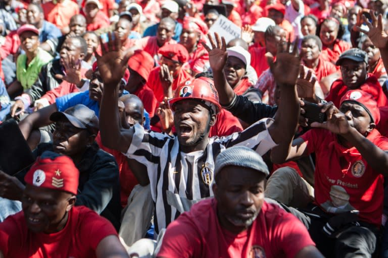
[{"label": "striped-jersey man's raised open hand on the left", "polygon": [[[126,51],[121,45],[117,32],[108,32],[108,38],[107,44],[104,44],[100,38],[102,55],[99,55],[95,49],[94,55],[97,59],[104,87],[117,87],[125,73],[128,59],[133,54],[133,51]],[[106,46],[108,46],[108,49]]]}]

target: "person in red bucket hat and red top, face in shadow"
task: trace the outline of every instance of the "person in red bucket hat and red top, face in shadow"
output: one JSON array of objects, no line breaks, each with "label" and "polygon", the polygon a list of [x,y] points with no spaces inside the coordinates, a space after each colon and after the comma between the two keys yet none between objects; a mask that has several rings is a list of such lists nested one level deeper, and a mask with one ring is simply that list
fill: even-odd
[{"label": "person in red bucket hat and red top, face in shadow", "polygon": [[136,95],[143,102],[144,108],[152,118],[155,114],[158,101],[154,92],[148,86],[148,77],[154,68],[154,59],[143,50],[135,50],[128,60],[129,79],[125,89]]}]

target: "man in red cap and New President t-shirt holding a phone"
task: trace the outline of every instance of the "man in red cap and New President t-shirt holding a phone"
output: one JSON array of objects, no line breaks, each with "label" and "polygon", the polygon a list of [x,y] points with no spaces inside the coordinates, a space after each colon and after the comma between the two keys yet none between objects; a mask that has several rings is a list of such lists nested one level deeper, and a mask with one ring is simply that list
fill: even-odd
[{"label": "man in red cap and New President t-shirt holding a phone", "polygon": [[[339,110],[331,102],[321,107],[327,121],[313,122],[311,126],[318,128],[295,139],[285,159],[273,161],[295,160],[314,152],[315,202],[293,213],[326,257],[370,257],[379,235],[383,181],[388,176],[388,139],[375,129],[380,112],[373,96],[361,90],[346,92]],[[276,196],[284,195],[289,184],[305,182],[288,172],[275,172],[268,180],[266,196],[275,198],[267,194],[273,187]]]}]

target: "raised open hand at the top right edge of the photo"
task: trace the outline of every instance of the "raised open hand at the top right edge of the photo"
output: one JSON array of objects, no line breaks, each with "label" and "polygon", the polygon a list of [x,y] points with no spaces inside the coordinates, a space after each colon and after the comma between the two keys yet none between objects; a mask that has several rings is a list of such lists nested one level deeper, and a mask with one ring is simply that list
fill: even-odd
[{"label": "raised open hand at the top right edge of the photo", "polygon": [[357,29],[365,33],[370,38],[373,45],[378,48],[384,48],[388,43],[388,35],[385,33],[382,27],[382,15],[379,14],[378,17],[376,17],[373,11],[370,11],[369,13],[372,18],[372,23],[366,19],[365,15],[362,15],[362,19],[364,20],[366,26],[368,26],[369,31],[361,29],[360,27],[357,27]]}]

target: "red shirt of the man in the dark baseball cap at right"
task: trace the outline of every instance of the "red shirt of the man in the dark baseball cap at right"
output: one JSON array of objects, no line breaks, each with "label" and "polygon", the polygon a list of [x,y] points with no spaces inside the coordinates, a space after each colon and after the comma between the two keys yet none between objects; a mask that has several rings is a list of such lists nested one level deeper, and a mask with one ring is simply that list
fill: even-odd
[{"label": "red shirt of the man in the dark baseball cap at right", "polygon": [[[377,106],[382,107],[388,104],[385,94],[383,93],[382,88],[374,75],[368,74],[368,78],[359,89],[372,95],[377,102]],[[331,85],[326,100],[332,101],[334,105],[339,108],[341,104],[341,98],[348,90],[350,89],[344,84],[342,79],[336,80]]]}]

